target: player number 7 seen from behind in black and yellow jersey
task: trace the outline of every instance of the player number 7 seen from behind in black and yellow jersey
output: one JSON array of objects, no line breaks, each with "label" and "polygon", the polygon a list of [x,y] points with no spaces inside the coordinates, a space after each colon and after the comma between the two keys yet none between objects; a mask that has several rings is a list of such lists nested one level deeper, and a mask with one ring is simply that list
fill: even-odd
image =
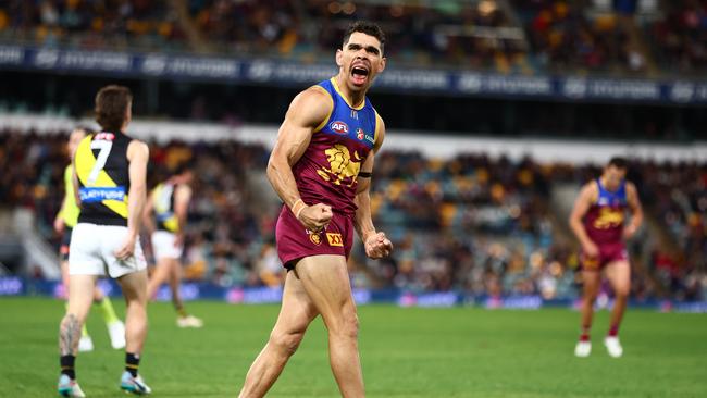
[{"label": "player number 7 seen from behind in black and yellow jersey", "polygon": [[100,89],[96,121],[102,130],[85,137],[74,156],[74,188],[82,211],[69,252],[69,309],[59,329],[58,390],[65,397],[85,396],[74,363],[96,279],[106,271],[121,285],[126,301],[125,371],[120,388],[138,395],[151,391],[138,375],[147,335],[147,264],[138,234],[149,149],[125,134],[132,103],[133,96],[125,87]]}]

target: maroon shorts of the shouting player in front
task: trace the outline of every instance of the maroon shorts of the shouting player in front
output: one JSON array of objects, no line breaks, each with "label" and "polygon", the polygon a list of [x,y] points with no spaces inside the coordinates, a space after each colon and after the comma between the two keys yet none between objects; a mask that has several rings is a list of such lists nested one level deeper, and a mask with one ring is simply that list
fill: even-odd
[{"label": "maroon shorts of the shouting player in front", "polygon": [[334,212],[325,231],[315,233],[307,229],[283,206],[275,226],[277,256],[286,269],[290,270],[301,258],[318,254],[338,254],[348,259],[354,245],[354,216]]}]

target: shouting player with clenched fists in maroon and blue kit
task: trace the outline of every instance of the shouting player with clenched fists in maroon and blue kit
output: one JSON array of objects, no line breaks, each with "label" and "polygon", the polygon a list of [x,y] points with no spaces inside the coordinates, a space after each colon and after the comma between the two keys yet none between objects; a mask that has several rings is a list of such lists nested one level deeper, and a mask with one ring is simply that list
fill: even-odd
[{"label": "shouting player with clenched fists in maroon and blue kit", "polygon": [[275,236],[280,259],[290,272],[277,322],[248,370],[240,397],[268,393],[320,314],[342,396],[364,396],[347,260],[354,228],[370,258],[393,250],[373,226],[369,196],[385,126],[365,94],[385,67],[384,42],[377,25],[351,24],[336,51],[338,75],[295,97],[280,128],[268,178],[285,203]]}]

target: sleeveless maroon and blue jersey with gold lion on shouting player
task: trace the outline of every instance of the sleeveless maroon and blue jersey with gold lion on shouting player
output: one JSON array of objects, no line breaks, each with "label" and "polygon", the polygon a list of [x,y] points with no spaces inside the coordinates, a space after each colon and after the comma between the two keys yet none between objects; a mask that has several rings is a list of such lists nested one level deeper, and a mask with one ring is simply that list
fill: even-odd
[{"label": "sleeveless maroon and blue jersey with gold lion on shouting player", "polygon": [[377,139],[376,112],[368,98],[360,107],[349,104],[335,78],[314,87],[331,98],[332,112],[293,166],[297,189],[309,206],[324,203],[335,212],[352,215],[361,164]]}]

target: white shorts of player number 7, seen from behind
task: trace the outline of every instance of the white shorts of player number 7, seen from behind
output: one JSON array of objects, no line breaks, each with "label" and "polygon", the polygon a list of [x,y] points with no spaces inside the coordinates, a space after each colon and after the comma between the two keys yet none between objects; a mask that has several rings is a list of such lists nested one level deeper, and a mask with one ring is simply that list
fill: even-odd
[{"label": "white shorts of player number 7, seen from behind", "polygon": [[135,241],[135,251],[129,259],[115,258],[114,252],[123,244],[126,234],[126,226],[76,224],[69,248],[69,274],[108,274],[110,277],[117,278],[145,270],[147,261],[145,261],[139,237]]}]

